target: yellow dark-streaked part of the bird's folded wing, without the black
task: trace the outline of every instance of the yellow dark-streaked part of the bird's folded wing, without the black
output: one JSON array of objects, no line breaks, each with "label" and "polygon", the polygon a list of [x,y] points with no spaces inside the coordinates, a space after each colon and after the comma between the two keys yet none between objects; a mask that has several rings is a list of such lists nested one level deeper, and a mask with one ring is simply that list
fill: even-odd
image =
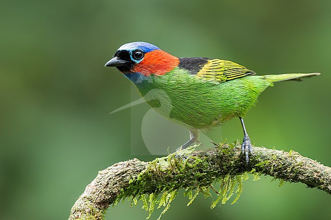
[{"label": "yellow dark-streaked part of the bird's folded wing, without the black", "polygon": [[254,71],[247,70],[247,68],[235,62],[223,59],[210,59],[197,73],[197,77],[225,82],[254,74],[256,74]]}]

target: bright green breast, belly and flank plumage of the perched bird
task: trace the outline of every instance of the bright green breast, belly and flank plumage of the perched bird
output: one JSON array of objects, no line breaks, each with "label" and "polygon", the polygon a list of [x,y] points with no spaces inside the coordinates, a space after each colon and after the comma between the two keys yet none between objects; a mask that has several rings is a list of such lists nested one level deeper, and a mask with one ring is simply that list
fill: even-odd
[{"label": "bright green breast, belly and flank plumage of the perched bird", "polygon": [[135,85],[147,103],[167,119],[187,128],[209,129],[244,116],[270,82],[260,76],[246,76],[218,83],[175,68]]}]

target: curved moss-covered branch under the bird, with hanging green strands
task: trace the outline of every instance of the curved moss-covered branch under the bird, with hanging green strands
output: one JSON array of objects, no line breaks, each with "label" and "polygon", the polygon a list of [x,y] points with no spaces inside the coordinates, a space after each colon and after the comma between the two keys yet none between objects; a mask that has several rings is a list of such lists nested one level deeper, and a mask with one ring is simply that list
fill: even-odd
[{"label": "curved moss-covered branch under the bird, with hanging green strands", "polygon": [[[211,196],[211,188],[219,195],[211,205],[214,207],[222,198],[222,203],[225,203],[234,194],[235,184],[238,185],[235,201],[238,199],[242,179],[246,178],[244,175],[247,173],[270,175],[282,182],[302,182],[331,194],[331,168],[292,150],[284,152],[253,147],[255,156],[246,165],[238,144],[221,144],[202,151],[194,149],[177,151],[151,162],[137,159],[119,162],[99,171],[75,202],[69,220],[104,219],[109,205],[125,198],[131,198],[132,204],[142,200],[143,207],[150,214],[155,203],[159,203],[159,207],[165,206],[166,211],[180,188],[185,188],[186,195],[191,199],[189,204],[199,192]],[[219,191],[213,187],[214,182],[220,182]],[[195,190],[195,195],[192,190]],[[145,194],[149,195],[148,198]],[[163,195],[157,200],[160,194]]]}]

